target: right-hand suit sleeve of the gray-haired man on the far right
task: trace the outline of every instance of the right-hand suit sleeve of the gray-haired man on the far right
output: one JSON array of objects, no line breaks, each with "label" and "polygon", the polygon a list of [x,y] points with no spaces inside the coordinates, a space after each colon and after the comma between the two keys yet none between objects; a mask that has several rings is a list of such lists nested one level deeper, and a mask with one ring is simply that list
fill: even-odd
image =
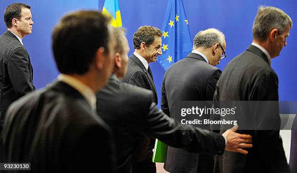
[{"label": "right-hand suit sleeve of the gray-haired man on the far right", "polygon": [[[270,171],[282,169],[282,173],[289,172],[280,137],[281,118],[279,111],[278,78],[274,72],[266,72],[256,84],[251,95],[256,102],[255,109],[255,136],[253,141],[258,143],[260,156]],[[277,158],[277,159],[276,159]]]}]

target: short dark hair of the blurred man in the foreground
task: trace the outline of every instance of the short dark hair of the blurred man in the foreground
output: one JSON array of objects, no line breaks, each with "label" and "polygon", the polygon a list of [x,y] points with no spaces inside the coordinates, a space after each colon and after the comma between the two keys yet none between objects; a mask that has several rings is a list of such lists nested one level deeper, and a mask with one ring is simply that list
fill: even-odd
[{"label": "short dark hair of the blurred man in the foreground", "polygon": [[109,19],[99,11],[77,11],[64,16],[52,32],[58,70],[82,75],[94,62],[99,47],[108,53]]}]

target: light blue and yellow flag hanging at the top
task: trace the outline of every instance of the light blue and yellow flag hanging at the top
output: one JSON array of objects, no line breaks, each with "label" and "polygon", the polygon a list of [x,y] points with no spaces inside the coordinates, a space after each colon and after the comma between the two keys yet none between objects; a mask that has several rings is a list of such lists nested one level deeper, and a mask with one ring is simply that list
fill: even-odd
[{"label": "light blue and yellow flag hanging at the top", "polygon": [[102,14],[111,17],[110,24],[117,28],[122,26],[121,12],[118,0],[105,0]]}]

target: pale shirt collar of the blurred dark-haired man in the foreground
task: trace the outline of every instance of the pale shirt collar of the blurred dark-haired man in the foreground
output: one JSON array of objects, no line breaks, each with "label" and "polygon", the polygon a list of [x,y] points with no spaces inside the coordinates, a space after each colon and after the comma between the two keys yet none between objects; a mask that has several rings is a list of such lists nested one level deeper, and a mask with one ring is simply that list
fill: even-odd
[{"label": "pale shirt collar of the blurred dark-haired man in the foreground", "polygon": [[86,86],[80,80],[75,79],[69,75],[60,74],[57,78],[76,89],[89,102],[93,110],[96,110],[96,95],[90,87]]}]

